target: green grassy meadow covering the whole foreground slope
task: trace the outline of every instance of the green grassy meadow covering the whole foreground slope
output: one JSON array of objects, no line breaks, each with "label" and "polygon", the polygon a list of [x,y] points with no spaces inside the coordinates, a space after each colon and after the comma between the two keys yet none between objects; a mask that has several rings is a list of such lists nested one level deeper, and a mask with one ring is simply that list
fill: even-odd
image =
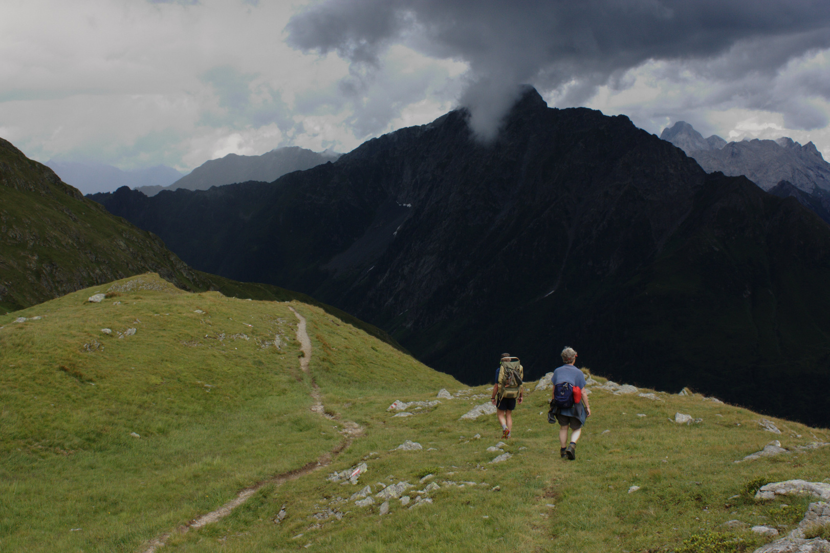
[{"label": "green grassy meadow covering the whole foreground slope", "polygon": [[[86,301],[98,292],[108,297]],[[310,374],[290,307],[307,320]],[[148,274],[0,327],[2,551],[145,551],[164,533],[158,551],[754,551],[769,538],[723,522],[784,534],[809,502],[756,502],[759,486],[830,482],[830,447],[797,448],[830,442],[827,429],[770,418],[781,433],[769,433],[758,414],[700,395],[594,388],[577,458],[563,460],[549,391],[535,383],[500,448],[512,457],[491,463],[495,415],[460,420],[490,387],[468,388],[297,301],[188,293]],[[330,418],[310,410],[312,379]],[[387,410],[442,388],[462,393],[412,416]],[[702,421],[674,423],[676,412]],[[349,422],[364,433],[339,451]],[[790,453],[735,463],[774,439]],[[406,440],[422,449],[396,449]],[[330,452],[328,466],[267,483]],[[361,462],[357,485],[327,480]],[[177,531],[258,482],[230,515]],[[388,514],[382,499],[349,501],[398,482],[413,484],[403,492],[413,501],[390,499]],[[439,488],[425,491],[430,482]]]}]

